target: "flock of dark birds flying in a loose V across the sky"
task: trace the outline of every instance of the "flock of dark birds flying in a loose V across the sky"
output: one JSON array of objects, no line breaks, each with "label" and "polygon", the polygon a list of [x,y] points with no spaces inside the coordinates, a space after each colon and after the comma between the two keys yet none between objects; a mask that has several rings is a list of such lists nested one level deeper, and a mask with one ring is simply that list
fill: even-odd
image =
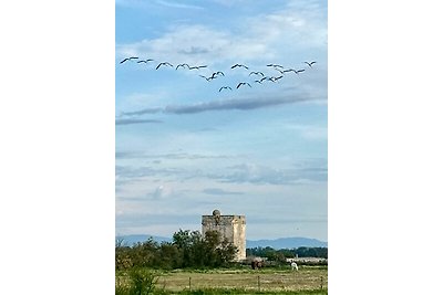
[{"label": "flock of dark birds flying in a loose V across the sky", "polygon": [[[125,62],[136,62],[136,63],[145,63],[145,64],[147,64],[147,63],[150,63],[150,62],[155,62],[153,59],[147,59],[147,60],[141,60],[141,59],[138,59],[137,56],[131,56],[131,57],[125,57],[125,59],[123,59],[121,62],[120,62],[120,64],[123,64],[123,63],[125,63]],[[312,62],[305,62],[305,64],[307,64],[309,67],[312,67],[312,65],[315,64],[316,62],[315,61],[312,61]],[[173,64],[171,64],[171,63],[168,63],[168,62],[161,62],[161,63],[158,63],[157,64],[157,66],[155,67],[155,70],[158,70],[158,69],[161,69],[162,66],[164,66],[164,67],[173,67],[174,69],[174,65]],[[265,75],[262,72],[260,72],[260,71],[251,71],[250,73],[249,73],[249,75],[248,76],[251,76],[251,77],[254,77],[255,78],[255,81],[254,82],[251,82],[251,83],[259,83],[259,84],[261,84],[261,83],[264,83],[264,82],[266,82],[266,81],[269,81],[269,82],[274,82],[274,83],[276,83],[276,82],[278,82],[280,78],[282,78],[284,76],[285,76],[285,74],[287,74],[287,73],[290,73],[290,72],[292,72],[292,73],[295,73],[295,74],[299,74],[299,73],[302,73],[302,72],[305,72],[306,71],[306,69],[299,69],[299,70],[295,70],[295,69],[285,69],[285,66],[282,66],[282,65],[279,65],[279,64],[267,64],[266,65],[267,67],[270,67],[270,69],[272,69],[272,70],[275,70],[276,71],[276,73],[278,72],[279,74],[278,75],[271,75],[271,76],[267,76],[267,75]],[[187,63],[182,63],[182,64],[177,64],[176,66],[175,66],[175,70],[177,71],[178,69],[181,69],[181,67],[183,67],[183,69],[187,69],[187,70],[189,70],[189,71],[192,71],[192,70],[200,70],[200,69],[205,69],[205,67],[207,67],[207,65],[194,65],[194,66],[190,66],[189,64],[187,64]],[[234,64],[233,66],[230,66],[230,69],[231,70],[234,70],[234,69],[236,69],[236,67],[238,67],[238,69],[245,69],[245,70],[248,70],[249,71],[249,67],[248,66],[246,66],[246,65],[244,65],[244,64],[238,64],[238,63],[236,63],[236,64]],[[219,76],[225,76],[225,73],[224,72],[222,72],[222,71],[217,71],[217,72],[214,72],[212,75],[209,75],[209,76],[204,76],[204,75],[199,75],[200,77],[203,77],[203,78],[205,78],[207,82],[210,82],[210,81],[213,81],[213,80],[215,80],[215,78],[217,78],[217,77],[219,77]],[[250,83],[249,82],[238,82],[238,84],[237,84],[237,86],[236,86],[236,88],[238,89],[239,87],[241,87],[241,86],[249,86],[249,87],[253,87],[251,85],[250,85]],[[218,92],[222,92],[222,91],[224,91],[224,89],[230,89],[230,91],[233,91],[233,88],[230,87],[230,86],[222,86],[219,89],[218,89]]]}]

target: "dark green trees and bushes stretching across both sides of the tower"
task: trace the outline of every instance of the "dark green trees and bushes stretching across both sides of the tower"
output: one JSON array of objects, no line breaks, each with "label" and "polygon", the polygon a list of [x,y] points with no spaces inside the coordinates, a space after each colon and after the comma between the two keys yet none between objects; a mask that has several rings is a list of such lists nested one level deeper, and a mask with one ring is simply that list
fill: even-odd
[{"label": "dark green trees and bushes stretching across both sides of the tower", "polygon": [[[207,231],[205,236],[199,231],[179,230],[172,242],[158,243],[153,238],[130,246],[124,240],[115,244],[116,270],[150,267],[158,270],[175,268],[214,268],[231,266],[238,249],[217,231]],[[286,264],[288,257],[328,259],[328,247],[306,247],[275,250],[270,246],[246,250],[247,256],[259,256],[268,262]],[[327,263],[327,262],[324,262]]]}]

